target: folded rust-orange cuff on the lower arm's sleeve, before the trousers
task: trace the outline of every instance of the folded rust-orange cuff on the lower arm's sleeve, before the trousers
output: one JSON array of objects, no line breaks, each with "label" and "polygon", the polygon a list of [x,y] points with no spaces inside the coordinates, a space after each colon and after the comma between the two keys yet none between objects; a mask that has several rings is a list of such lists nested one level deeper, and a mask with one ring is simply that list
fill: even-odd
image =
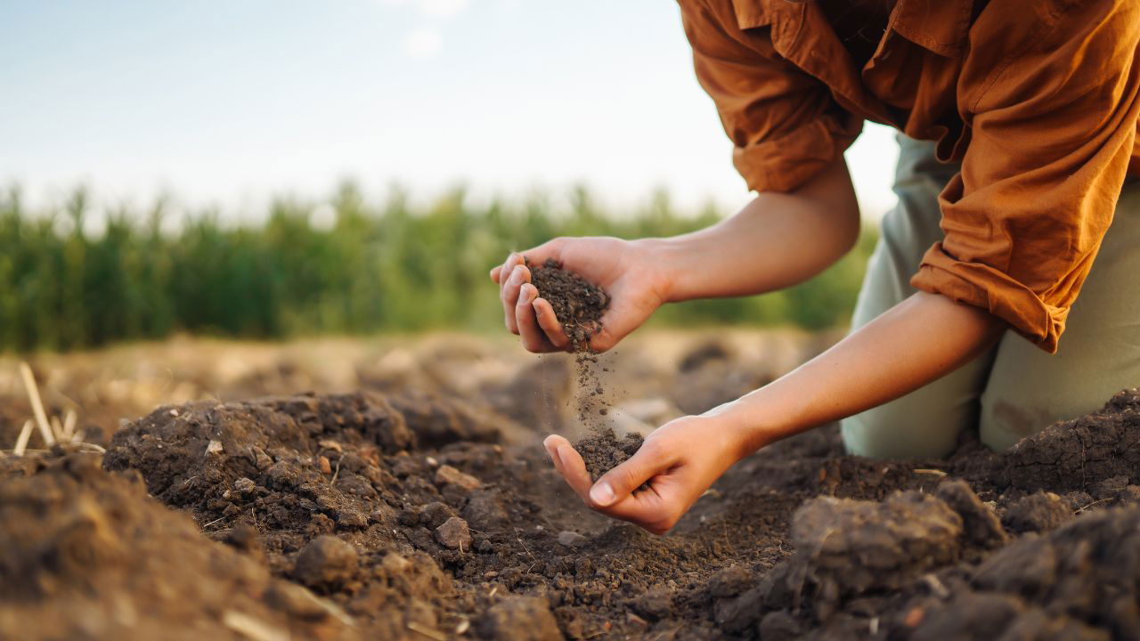
[{"label": "folded rust-orange cuff on the lower arm's sleeve, before the trousers", "polygon": [[958,302],[988,310],[1049,354],[1065,331],[1068,307],[1054,307],[1009,275],[980,262],[956,260],[935,243],[911,285]]}]

